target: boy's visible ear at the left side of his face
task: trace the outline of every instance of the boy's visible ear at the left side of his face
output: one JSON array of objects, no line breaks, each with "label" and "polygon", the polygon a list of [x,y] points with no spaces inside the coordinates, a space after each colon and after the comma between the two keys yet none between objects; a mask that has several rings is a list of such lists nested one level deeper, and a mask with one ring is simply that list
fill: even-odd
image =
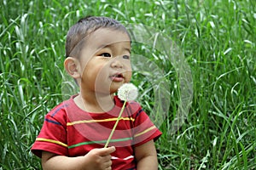
[{"label": "boy's visible ear at the left side of his face", "polygon": [[67,71],[67,73],[73,77],[73,78],[79,78],[81,77],[81,74],[79,72],[79,61],[78,59],[75,59],[73,57],[67,57],[64,61],[64,66]]}]

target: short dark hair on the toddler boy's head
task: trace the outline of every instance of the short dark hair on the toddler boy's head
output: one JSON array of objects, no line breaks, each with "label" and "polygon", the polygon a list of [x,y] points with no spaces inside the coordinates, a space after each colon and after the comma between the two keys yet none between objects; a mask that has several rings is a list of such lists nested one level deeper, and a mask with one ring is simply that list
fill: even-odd
[{"label": "short dark hair on the toddler boy's head", "polygon": [[119,31],[125,31],[130,37],[125,26],[121,25],[117,20],[103,16],[87,16],[80,19],[67,32],[66,57],[74,57],[78,55],[84,44],[84,37],[99,28],[112,28]]}]

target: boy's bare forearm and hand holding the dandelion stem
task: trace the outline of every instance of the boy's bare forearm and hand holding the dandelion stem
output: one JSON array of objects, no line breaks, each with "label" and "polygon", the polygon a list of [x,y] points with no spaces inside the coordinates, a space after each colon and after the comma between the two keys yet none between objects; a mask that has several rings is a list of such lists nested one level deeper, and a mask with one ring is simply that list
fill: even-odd
[{"label": "boy's bare forearm and hand holding the dandelion stem", "polygon": [[111,169],[111,156],[114,147],[90,150],[85,156],[67,157],[54,153],[42,152],[44,170],[106,170]]}]

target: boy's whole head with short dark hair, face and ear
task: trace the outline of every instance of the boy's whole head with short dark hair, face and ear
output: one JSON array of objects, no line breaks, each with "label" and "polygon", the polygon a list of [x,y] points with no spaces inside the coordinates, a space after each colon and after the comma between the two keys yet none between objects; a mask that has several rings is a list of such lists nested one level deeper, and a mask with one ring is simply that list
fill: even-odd
[{"label": "boy's whole head with short dark hair, face and ear", "polygon": [[131,80],[131,37],[107,17],[86,17],[67,33],[65,68],[82,90],[113,94]]}]

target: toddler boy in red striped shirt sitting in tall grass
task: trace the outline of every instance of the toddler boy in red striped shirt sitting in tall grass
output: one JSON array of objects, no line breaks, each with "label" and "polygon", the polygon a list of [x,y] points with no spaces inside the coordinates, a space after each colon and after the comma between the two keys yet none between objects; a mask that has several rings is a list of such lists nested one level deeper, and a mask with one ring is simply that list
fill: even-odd
[{"label": "toddler boy in red striped shirt sitting in tall grass", "polygon": [[131,37],[118,21],[86,17],[67,33],[64,65],[80,93],[50,111],[32,152],[44,169],[157,169],[154,140],[160,131],[137,102],[123,105],[114,93],[131,80]]}]

